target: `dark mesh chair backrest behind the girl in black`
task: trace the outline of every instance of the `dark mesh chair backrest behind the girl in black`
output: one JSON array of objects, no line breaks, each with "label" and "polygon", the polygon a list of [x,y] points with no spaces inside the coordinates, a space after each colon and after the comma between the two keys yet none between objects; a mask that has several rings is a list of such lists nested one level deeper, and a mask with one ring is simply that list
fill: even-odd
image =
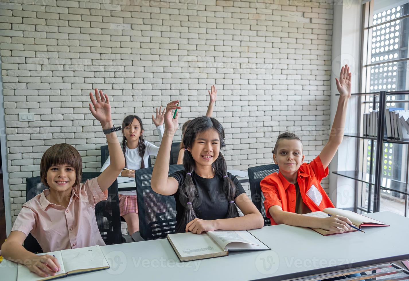
[{"label": "dark mesh chair backrest behind the girl in black", "polygon": [[[169,165],[169,175],[183,169],[183,165]],[[153,167],[135,171],[139,232],[145,240],[166,238],[176,226],[175,198],[152,190],[152,171]]]}]

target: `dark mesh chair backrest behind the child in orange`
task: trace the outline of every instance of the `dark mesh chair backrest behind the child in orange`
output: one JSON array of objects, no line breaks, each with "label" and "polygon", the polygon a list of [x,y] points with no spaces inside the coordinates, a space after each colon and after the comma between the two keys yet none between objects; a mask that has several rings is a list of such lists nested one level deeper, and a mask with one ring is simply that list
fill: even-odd
[{"label": "dark mesh chair backrest behind the child in orange", "polygon": [[252,201],[256,205],[258,211],[264,218],[264,226],[271,225],[270,219],[267,218],[264,208],[264,195],[261,192],[260,182],[267,175],[272,173],[277,173],[279,171],[279,165],[277,164],[268,164],[262,166],[251,167],[247,169],[249,173],[249,183],[250,183],[250,192],[252,193]]}]

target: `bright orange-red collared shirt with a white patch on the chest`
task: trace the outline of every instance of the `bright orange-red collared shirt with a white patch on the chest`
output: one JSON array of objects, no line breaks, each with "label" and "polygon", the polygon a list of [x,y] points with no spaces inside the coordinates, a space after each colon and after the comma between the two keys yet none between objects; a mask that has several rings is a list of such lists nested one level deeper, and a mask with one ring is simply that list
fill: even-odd
[{"label": "bright orange-red collared shirt with a white patch on the chest", "polygon": [[[309,164],[301,164],[298,169],[297,183],[300,188],[301,197],[312,212],[322,211],[329,207],[334,208],[333,203],[320,184],[321,180],[327,175],[328,167],[324,169],[319,156]],[[267,175],[260,182],[260,187],[265,198],[265,213],[267,218],[270,218],[271,225],[276,225],[268,211],[271,206],[278,205],[283,211],[295,213],[297,198],[295,186],[288,182],[281,172]]]}]

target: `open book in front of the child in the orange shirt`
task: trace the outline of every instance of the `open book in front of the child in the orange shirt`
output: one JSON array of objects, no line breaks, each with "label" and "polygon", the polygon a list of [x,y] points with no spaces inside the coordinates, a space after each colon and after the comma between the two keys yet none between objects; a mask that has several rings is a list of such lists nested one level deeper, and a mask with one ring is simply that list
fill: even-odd
[{"label": "open book in front of the child in the orange shirt", "polygon": [[[372,218],[368,218],[366,216],[354,213],[353,211],[348,211],[348,210],[342,210],[342,209],[337,209],[337,208],[326,208],[324,211],[317,211],[317,212],[312,212],[309,214],[304,214],[303,216],[312,216],[312,217],[317,217],[317,218],[327,218],[328,214],[332,216],[343,216],[345,218],[348,218],[351,220],[352,225],[361,228],[363,226],[389,226],[385,223],[381,223],[378,220],[374,220]],[[324,236],[327,235],[333,235],[333,234],[339,234],[339,232],[335,232],[333,230],[325,230],[321,228],[312,228],[312,230],[315,230],[319,234],[322,234]],[[356,229],[352,229],[351,231],[346,231],[347,232],[355,232],[357,231]]]}]

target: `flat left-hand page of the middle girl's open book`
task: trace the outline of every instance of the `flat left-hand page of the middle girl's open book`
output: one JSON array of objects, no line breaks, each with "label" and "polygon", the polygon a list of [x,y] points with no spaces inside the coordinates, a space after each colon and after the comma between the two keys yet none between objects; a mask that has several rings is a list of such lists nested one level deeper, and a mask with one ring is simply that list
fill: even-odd
[{"label": "flat left-hand page of the middle girl's open book", "polygon": [[201,256],[225,252],[206,233],[193,234],[191,232],[168,234],[168,238],[175,246],[181,257]]}]

